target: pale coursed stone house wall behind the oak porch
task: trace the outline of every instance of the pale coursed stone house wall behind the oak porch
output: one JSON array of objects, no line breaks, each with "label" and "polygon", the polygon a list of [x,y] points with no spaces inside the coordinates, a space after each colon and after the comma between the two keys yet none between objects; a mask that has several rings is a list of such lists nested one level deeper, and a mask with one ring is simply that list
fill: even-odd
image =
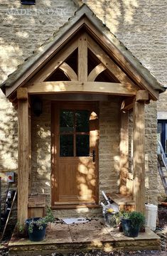
[{"label": "pale coursed stone house wall behind the oak porch", "polygon": [[[111,29],[111,31],[139,58],[141,63],[149,68],[151,73],[156,78],[163,82],[166,81],[166,5],[163,0],[133,0],[133,1],[95,1],[85,0],[88,6],[95,11],[95,14],[102,19],[104,23]],[[33,50],[38,48],[47,38],[52,36],[53,31],[62,26],[68,18],[72,16],[77,7],[72,1],[68,0],[40,0],[36,1],[36,6],[23,6],[20,0],[11,1],[4,0],[0,3],[0,82],[3,82],[7,75],[16,70],[17,65],[23,62]],[[166,107],[166,96],[160,97]],[[11,103],[6,100],[4,94],[0,91],[0,171],[3,178],[2,190],[5,192],[7,188],[5,174],[6,171],[17,171],[17,114]],[[104,110],[102,104],[102,110]],[[152,106],[152,107],[151,107]],[[48,105],[45,106],[46,108]],[[164,109],[163,107],[163,109]],[[161,104],[158,103],[158,109]],[[105,110],[104,110],[105,112]],[[148,114],[156,113],[156,105],[148,106]],[[156,145],[153,138],[156,138],[156,120],[151,114],[147,125],[146,139],[149,139],[149,144],[146,144],[148,149],[148,166],[150,176],[153,177],[153,184],[156,184]],[[112,117],[111,117],[112,118]],[[36,123],[36,118],[33,120],[35,127],[37,127],[37,139],[43,130],[43,141],[45,141],[45,150],[50,151],[48,146],[49,141],[49,125],[45,121],[45,113],[43,113],[43,122],[41,127]],[[153,123],[153,124],[151,124]],[[153,125],[152,132],[149,132],[149,126]],[[109,129],[117,129],[116,127],[107,127]],[[108,136],[101,126],[102,139]],[[43,135],[42,135],[43,136]],[[108,137],[107,137],[108,138]],[[47,142],[47,143],[46,143]],[[146,141],[147,142],[147,141]],[[109,141],[107,142],[109,146]],[[151,148],[152,146],[152,148]],[[109,146],[110,147],[110,146]],[[113,150],[116,150],[115,158],[111,155],[110,164],[114,164],[114,176],[117,177],[117,140],[111,145]],[[35,150],[36,148],[33,148]],[[102,149],[102,144],[99,145]],[[107,150],[106,150],[107,151]],[[43,152],[38,149],[36,159],[43,157]],[[102,153],[100,166],[104,164],[105,154]],[[47,158],[47,161],[49,159]],[[42,165],[34,164],[33,170],[36,169],[34,175],[40,175],[39,170],[42,168],[43,174],[48,175],[47,169]],[[109,166],[106,166],[109,169]],[[153,174],[153,176],[152,176]],[[100,174],[101,175],[101,174]],[[107,176],[104,176],[107,179]],[[48,176],[47,176],[48,179]],[[152,180],[151,180],[152,181]],[[150,181],[150,185],[151,185]],[[37,181],[34,181],[36,184]],[[43,189],[49,193],[50,188],[41,181]],[[100,184],[100,186],[102,186]],[[102,188],[102,187],[101,187]],[[107,188],[107,186],[106,186]],[[114,191],[116,186],[112,187]],[[155,185],[150,187],[150,195]],[[156,188],[155,188],[156,189]],[[34,186],[35,190],[35,186]],[[34,191],[35,192],[35,191]],[[155,195],[155,193],[154,193]],[[150,198],[151,202],[155,198]]]}]

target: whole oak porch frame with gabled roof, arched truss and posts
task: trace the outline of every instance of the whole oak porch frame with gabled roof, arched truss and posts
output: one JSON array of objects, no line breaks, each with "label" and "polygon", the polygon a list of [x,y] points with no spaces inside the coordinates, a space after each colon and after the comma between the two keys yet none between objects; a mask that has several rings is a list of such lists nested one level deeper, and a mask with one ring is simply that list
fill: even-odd
[{"label": "whole oak porch frame with gabled roof, arched truss and posts", "polygon": [[[77,67],[72,68],[67,60],[75,50]],[[95,65],[92,65],[90,72],[89,54],[89,60],[92,56],[95,58]],[[57,72],[58,68],[67,74],[67,80],[55,79],[53,73]],[[97,75],[105,70],[108,72],[108,79],[96,80]],[[53,79],[48,80],[52,75]],[[129,110],[131,107],[134,109],[134,199],[136,209],[144,212],[144,104],[149,100],[158,100],[158,94],[163,92],[163,87],[86,5],[78,9],[75,16],[70,18],[48,43],[41,46],[31,58],[18,67],[18,70],[9,75],[1,89],[9,100],[18,105],[19,222],[24,222],[28,210],[30,160],[27,156],[31,155],[28,97],[36,94],[89,93],[126,96],[122,102],[122,110]],[[128,169],[128,114],[121,114],[120,118],[119,164],[122,175],[124,169]],[[121,185],[124,187],[124,183]]]}]

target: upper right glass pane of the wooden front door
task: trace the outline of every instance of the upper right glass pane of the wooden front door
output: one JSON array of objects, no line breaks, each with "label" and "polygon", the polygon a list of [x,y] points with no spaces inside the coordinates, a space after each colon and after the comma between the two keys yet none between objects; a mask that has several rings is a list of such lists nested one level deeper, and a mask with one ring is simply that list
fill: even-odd
[{"label": "upper right glass pane of the wooden front door", "polygon": [[76,111],[76,132],[89,132],[90,112],[88,110]]}]

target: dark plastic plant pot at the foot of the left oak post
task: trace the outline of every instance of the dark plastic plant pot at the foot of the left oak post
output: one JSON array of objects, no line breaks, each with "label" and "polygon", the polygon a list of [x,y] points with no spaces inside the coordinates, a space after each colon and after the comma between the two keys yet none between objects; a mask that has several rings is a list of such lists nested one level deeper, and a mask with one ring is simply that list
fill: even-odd
[{"label": "dark plastic plant pot at the foot of the left oak post", "polygon": [[[26,220],[26,226],[27,226],[27,230],[28,227],[30,225],[30,223],[36,222],[36,220],[39,220],[40,218],[30,218]],[[47,224],[43,224],[43,229],[39,229],[38,225],[36,225],[36,223],[33,223],[33,232],[29,232],[28,230],[28,236],[29,236],[29,240],[33,241],[33,242],[38,242],[41,241],[45,238],[45,230],[46,230],[46,226]]]}]

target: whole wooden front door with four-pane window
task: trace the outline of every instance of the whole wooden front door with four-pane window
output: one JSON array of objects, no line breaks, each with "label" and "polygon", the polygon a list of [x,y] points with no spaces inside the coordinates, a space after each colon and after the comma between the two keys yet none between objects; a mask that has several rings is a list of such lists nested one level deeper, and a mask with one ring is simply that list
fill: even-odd
[{"label": "whole wooden front door with four-pane window", "polygon": [[52,104],[52,206],[98,203],[97,103]]}]

